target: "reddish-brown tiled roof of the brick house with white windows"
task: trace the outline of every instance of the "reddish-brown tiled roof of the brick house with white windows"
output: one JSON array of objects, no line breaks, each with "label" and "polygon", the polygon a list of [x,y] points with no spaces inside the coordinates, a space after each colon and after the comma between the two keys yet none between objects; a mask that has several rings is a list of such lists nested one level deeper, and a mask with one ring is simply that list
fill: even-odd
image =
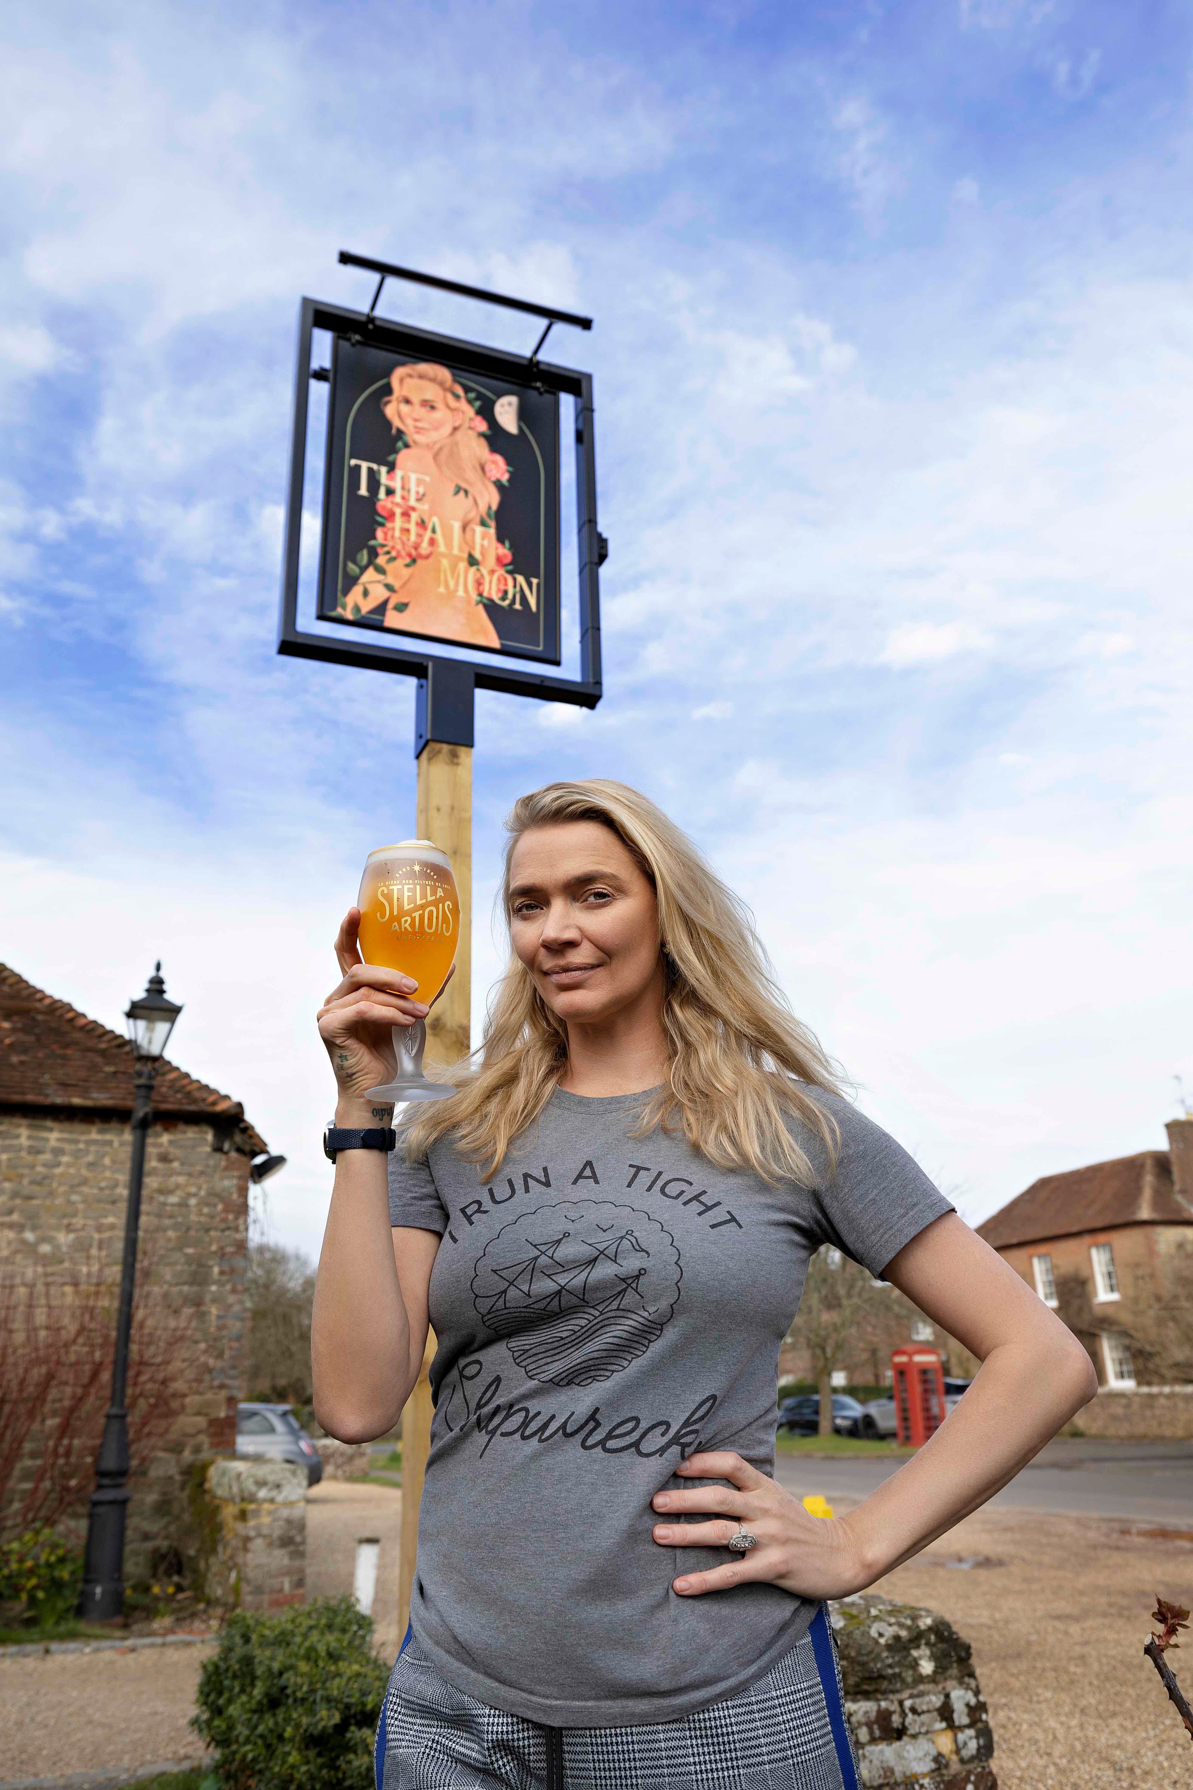
[{"label": "reddish-brown tiled roof of the brick house with white windows", "polygon": [[1166,1149],[1138,1156],[1093,1162],[1087,1169],[1045,1174],[1025,1194],[978,1224],[994,1249],[1021,1242],[1046,1242],[1077,1232],[1113,1230],[1116,1224],[1193,1224],[1193,1206],[1172,1187]]}]

